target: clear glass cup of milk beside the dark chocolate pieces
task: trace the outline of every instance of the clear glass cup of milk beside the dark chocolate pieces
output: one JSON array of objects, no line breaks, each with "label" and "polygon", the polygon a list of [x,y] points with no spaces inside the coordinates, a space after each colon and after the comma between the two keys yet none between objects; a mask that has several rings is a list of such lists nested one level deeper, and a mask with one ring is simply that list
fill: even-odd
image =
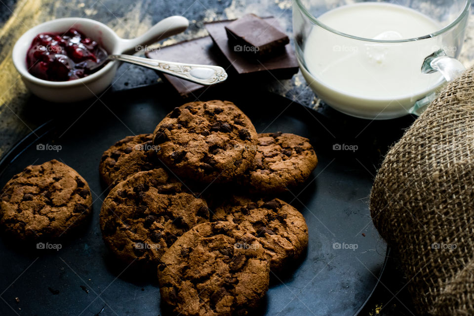
[{"label": "clear glass cup of milk beside the dark chocolate pieces", "polygon": [[294,0],[300,68],[316,95],[369,119],[417,114],[464,67],[471,0]]}]

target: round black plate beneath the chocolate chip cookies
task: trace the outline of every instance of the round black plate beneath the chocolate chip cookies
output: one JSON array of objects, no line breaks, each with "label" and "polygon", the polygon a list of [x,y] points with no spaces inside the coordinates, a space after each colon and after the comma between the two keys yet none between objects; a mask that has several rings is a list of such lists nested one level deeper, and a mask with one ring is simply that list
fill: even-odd
[{"label": "round black plate beneath the chocolate chip cookies", "polygon": [[[364,144],[370,137],[361,137],[358,145],[348,143],[354,135],[338,133],[341,125],[275,94],[225,95],[252,119],[257,131],[308,137],[319,158],[304,189],[283,197],[306,218],[308,251],[284,275],[272,277],[256,313],[355,315],[374,289],[386,255],[368,210],[372,175],[364,157],[373,155],[374,148]],[[213,93],[200,99],[220,97]],[[106,194],[98,165],[110,145],[127,135],[153,131],[181,102],[157,98],[156,89],[148,87],[113,93],[92,106],[49,108],[61,118],[40,127],[3,158],[1,186],[25,166],[56,158],[88,181],[94,204],[88,226],[59,251],[32,251],[0,240],[0,315],[167,315],[156,282],[123,272],[102,241],[98,215]]]}]

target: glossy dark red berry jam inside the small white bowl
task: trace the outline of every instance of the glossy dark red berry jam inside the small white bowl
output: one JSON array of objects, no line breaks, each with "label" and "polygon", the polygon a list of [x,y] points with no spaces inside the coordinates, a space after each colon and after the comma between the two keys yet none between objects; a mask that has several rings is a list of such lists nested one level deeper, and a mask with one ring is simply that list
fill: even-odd
[{"label": "glossy dark red berry jam inside the small white bowl", "polygon": [[69,81],[98,71],[107,52],[78,30],[38,34],[26,56],[28,72],[49,81]]}]

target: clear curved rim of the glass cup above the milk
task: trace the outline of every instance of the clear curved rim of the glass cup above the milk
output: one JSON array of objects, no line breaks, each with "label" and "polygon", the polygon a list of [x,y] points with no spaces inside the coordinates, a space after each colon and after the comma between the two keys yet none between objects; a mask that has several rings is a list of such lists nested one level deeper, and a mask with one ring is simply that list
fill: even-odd
[{"label": "clear curved rim of the glass cup above the milk", "polygon": [[469,10],[471,8],[471,0],[466,0],[463,10],[456,17],[456,19],[454,19],[451,23],[449,23],[448,25],[446,25],[442,29],[440,29],[440,30],[438,30],[434,33],[428,34],[428,35],[424,35],[424,36],[420,36],[420,37],[416,37],[416,38],[412,38],[412,39],[403,39],[403,40],[374,40],[374,39],[366,39],[366,38],[361,38],[361,37],[357,37],[357,36],[354,36],[354,35],[350,35],[350,34],[347,34],[347,33],[339,32],[338,30],[333,29],[333,28],[325,25],[324,23],[321,23],[315,16],[313,16],[313,14],[308,12],[308,10],[303,5],[303,3],[301,3],[301,0],[294,0],[294,1],[298,5],[300,11],[303,12],[304,15],[306,15],[306,17],[308,19],[310,19],[310,21],[312,23],[316,24],[317,26],[322,27],[323,29],[326,29],[329,32],[332,32],[332,33],[335,33],[335,34],[338,34],[338,35],[341,35],[341,36],[344,36],[344,37],[347,37],[347,38],[350,38],[350,39],[371,41],[371,42],[378,42],[378,43],[401,43],[401,42],[407,42],[407,41],[415,41],[415,40],[424,40],[424,39],[434,38],[436,36],[439,36],[441,34],[446,33],[447,31],[449,31],[450,29],[455,27],[457,24],[459,24],[459,22],[466,16],[466,14],[469,14]]}]

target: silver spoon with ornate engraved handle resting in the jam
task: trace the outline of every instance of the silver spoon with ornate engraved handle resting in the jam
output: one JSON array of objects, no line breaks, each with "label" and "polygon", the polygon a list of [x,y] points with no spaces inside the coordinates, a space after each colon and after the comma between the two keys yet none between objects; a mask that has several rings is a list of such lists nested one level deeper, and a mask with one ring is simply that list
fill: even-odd
[{"label": "silver spoon with ornate engraved handle resting in the jam", "polygon": [[216,84],[227,79],[226,71],[219,66],[176,63],[132,55],[109,55],[101,63],[97,64],[97,66],[90,69],[90,71],[102,67],[104,63],[109,60],[119,60],[140,65],[203,85]]}]

